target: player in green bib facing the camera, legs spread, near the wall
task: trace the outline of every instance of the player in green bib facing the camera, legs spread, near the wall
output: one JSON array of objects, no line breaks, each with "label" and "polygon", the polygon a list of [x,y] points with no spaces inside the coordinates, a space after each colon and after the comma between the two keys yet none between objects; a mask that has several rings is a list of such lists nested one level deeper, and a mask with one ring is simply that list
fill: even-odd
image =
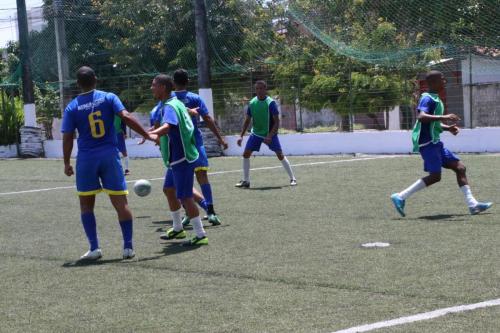
[{"label": "player in green bib facing the camera, legs spread, near the wall", "polygon": [[290,162],[283,155],[280,141],[278,139],[278,129],[280,125],[279,111],[276,102],[267,95],[267,84],[265,81],[255,82],[255,96],[248,105],[247,115],[243,123],[240,138],[237,143],[241,147],[243,137],[252,122],[252,134],[248,138],[243,152],[243,180],[241,180],[236,187],[249,188],[250,187],[250,157],[252,152],[259,151],[262,142],[264,142],[269,149],[276,153],[276,156],[283,164],[288,176],[290,177],[290,186],[297,185],[297,180],[290,166]]}]

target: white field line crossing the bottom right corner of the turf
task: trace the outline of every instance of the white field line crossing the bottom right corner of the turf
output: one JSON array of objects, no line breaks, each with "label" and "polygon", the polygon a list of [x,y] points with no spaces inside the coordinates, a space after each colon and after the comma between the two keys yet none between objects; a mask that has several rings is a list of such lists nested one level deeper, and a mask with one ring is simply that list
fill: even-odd
[{"label": "white field line crossing the bottom right corner of the turf", "polygon": [[438,310],[434,310],[434,311],[430,311],[430,312],[419,313],[419,314],[416,314],[413,316],[401,317],[401,318],[386,320],[386,321],[379,321],[378,323],[351,327],[348,329],[335,331],[332,333],[368,332],[368,331],[377,330],[379,328],[392,327],[392,326],[397,326],[397,325],[414,323],[414,322],[422,321],[422,320],[434,319],[434,318],[446,316],[450,313],[460,313],[460,312],[472,311],[472,310],[476,310],[476,309],[488,308],[488,307],[492,307],[492,306],[499,306],[499,305],[500,305],[500,298],[492,299],[489,301],[484,301],[484,302],[475,303],[475,304],[458,305],[458,306],[453,306],[450,308],[444,308],[444,309],[438,309]]}]

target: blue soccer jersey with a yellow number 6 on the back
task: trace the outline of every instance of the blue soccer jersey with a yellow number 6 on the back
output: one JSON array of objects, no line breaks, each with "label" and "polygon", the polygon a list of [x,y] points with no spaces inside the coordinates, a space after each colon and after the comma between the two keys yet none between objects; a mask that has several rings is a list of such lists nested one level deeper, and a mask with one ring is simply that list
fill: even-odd
[{"label": "blue soccer jersey with a yellow number 6 on the back", "polygon": [[100,90],[83,93],[68,104],[61,131],[78,130],[78,159],[117,153],[114,117],[123,110],[125,107],[118,96]]}]

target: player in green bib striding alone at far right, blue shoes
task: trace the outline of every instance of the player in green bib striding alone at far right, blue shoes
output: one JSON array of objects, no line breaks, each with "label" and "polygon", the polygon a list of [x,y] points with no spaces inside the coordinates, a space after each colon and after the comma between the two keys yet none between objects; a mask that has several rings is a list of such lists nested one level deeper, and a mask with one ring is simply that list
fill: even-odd
[{"label": "player in green bib striding alone at far right, blue shoes", "polygon": [[417,180],[407,189],[391,195],[391,200],[401,216],[405,216],[404,208],[406,199],[415,192],[420,191],[441,180],[441,168],[451,169],[457,176],[458,186],[462,190],[465,202],[472,215],[479,214],[491,207],[491,202],[478,202],[472,195],[465,165],[451,151],[443,146],[440,141],[442,131],[449,131],[457,135],[459,128],[456,124],[446,125],[443,121],[458,121],[455,114],[444,115],[444,104],[438,93],[445,87],[446,81],[439,71],[430,71],[426,76],[429,92],[423,93],[418,103],[418,118],[413,128],[413,151],[420,152],[424,160],[424,171],[429,175]]}]

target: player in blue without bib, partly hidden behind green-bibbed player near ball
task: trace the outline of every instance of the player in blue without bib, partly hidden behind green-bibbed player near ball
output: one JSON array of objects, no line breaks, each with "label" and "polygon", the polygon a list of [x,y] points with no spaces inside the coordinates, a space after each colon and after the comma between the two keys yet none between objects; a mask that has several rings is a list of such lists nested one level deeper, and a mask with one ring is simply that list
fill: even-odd
[{"label": "player in blue without bib, partly hidden behind green-bibbed player near ball", "polygon": [[[210,117],[207,106],[205,105],[203,99],[199,95],[186,90],[188,82],[189,76],[186,70],[178,69],[174,72],[175,96],[178,100],[184,103],[186,108],[196,109],[196,111],[192,112],[191,120],[194,125],[194,137],[196,140],[196,147],[198,148],[198,152],[200,153],[200,160],[199,166],[196,167],[194,171],[196,174],[196,179],[198,180],[198,184],[200,184],[201,192],[203,193],[203,197],[205,198],[207,204],[208,222],[212,225],[219,225],[221,222],[214,210],[212,187],[208,181],[208,157],[205,151],[205,146],[203,145],[203,136],[201,135],[201,131],[198,128],[199,116],[203,118],[203,120],[207,124],[207,127],[217,137],[219,144],[224,149],[227,149],[228,145],[224,138],[221,136],[214,120],[212,119],[212,117]],[[188,225],[189,219],[185,217],[182,221],[182,224]]]}]

